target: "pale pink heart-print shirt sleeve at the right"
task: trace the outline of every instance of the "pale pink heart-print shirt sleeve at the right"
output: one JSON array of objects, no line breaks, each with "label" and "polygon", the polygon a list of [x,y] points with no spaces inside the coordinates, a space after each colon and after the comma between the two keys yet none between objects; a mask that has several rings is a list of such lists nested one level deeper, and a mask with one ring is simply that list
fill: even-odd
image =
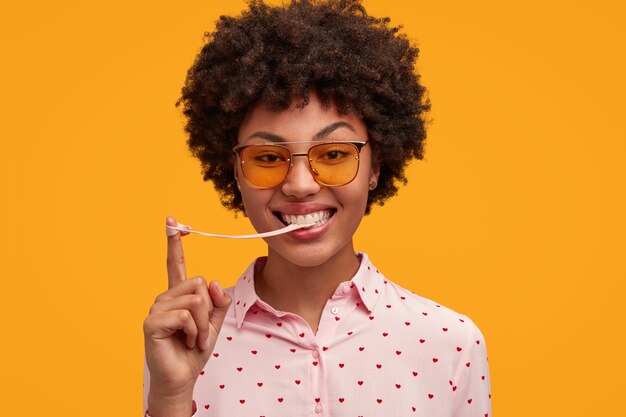
[{"label": "pale pink heart-print shirt sleeve at the right", "polygon": [[480,329],[469,318],[470,327],[457,365],[454,383],[458,385],[454,417],[491,417],[491,388],[487,348]]}]

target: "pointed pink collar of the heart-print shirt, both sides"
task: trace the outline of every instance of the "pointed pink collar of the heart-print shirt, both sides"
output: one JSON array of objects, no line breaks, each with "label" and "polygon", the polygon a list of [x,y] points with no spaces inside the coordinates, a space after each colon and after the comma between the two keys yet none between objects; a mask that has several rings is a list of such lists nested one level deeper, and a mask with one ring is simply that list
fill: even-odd
[{"label": "pointed pink collar of the heart-print shirt, both sides", "polygon": [[[358,252],[357,255],[361,258],[359,269],[350,281],[339,284],[335,294],[339,294],[344,287],[348,287],[353,293],[358,294],[365,308],[371,312],[387,281],[383,274],[371,263],[367,254]],[[266,260],[267,257],[257,258],[248,266],[235,284],[233,303],[235,305],[235,319],[238,328],[242,326],[246,314],[253,306],[254,310],[265,309],[271,310],[274,314],[277,313],[258,297],[254,289],[255,273],[263,268]]]}]

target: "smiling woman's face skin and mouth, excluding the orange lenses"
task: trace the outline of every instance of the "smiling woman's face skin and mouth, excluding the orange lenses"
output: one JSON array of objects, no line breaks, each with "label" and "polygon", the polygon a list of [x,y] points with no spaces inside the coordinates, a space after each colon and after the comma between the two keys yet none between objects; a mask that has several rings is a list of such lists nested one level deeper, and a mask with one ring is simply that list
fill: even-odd
[{"label": "smiling woman's face skin and mouth, excluding the orange lenses", "polygon": [[[251,109],[239,129],[240,145],[271,141],[303,142],[366,141],[365,124],[352,115],[342,115],[334,107],[326,109],[315,95],[303,108],[296,101],[282,112],[263,105]],[[280,143],[278,143],[280,144]],[[286,144],[292,153],[306,153],[315,143]],[[270,189],[251,187],[243,178],[239,161],[238,180],[246,214],[258,232],[284,227],[298,215],[316,214],[328,220],[306,229],[267,238],[270,257],[280,257],[300,266],[318,266],[333,257],[354,257],[352,236],[363,218],[369,184],[377,181],[372,167],[371,147],[360,152],[359,170],[352,182],[327,187],[315,181],[306,157],[294,157],[285,181]]]}]

